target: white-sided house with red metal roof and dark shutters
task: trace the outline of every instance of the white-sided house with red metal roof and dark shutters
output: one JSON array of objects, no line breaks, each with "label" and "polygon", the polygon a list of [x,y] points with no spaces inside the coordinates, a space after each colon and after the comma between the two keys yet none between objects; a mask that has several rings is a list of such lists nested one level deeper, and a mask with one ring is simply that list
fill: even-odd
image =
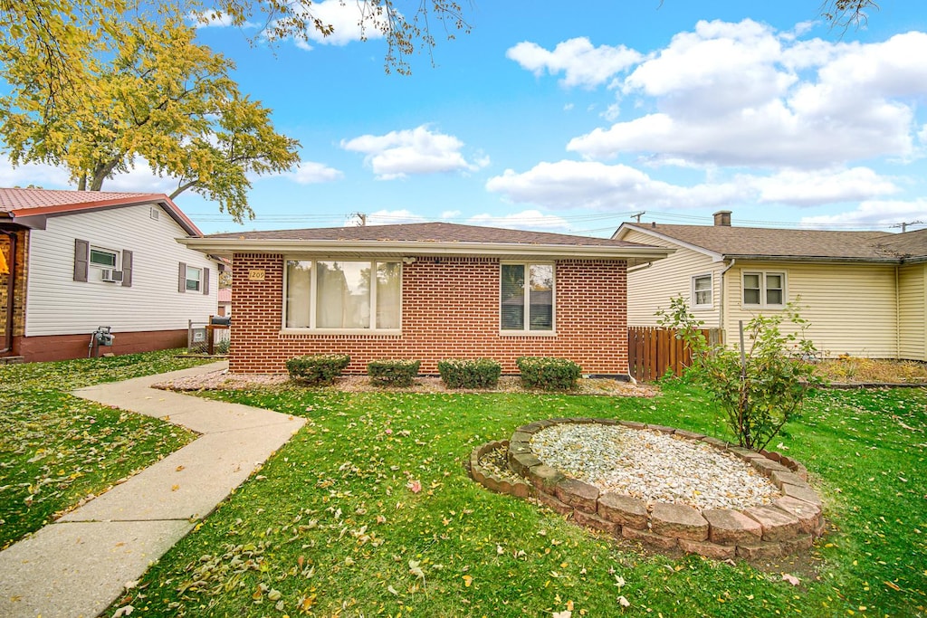
[{"label": "white-sided house with red metal roof and dark shutters", "polygon": [[14,310],[0,308],[14,316],[7,356],[87,356],[99,326],[117,354],[184,346],[188,321],[215,312],[217,260],[177,242],[202,234],[165,195],[0,189],[0,204],[22,262],[7,275]]}]

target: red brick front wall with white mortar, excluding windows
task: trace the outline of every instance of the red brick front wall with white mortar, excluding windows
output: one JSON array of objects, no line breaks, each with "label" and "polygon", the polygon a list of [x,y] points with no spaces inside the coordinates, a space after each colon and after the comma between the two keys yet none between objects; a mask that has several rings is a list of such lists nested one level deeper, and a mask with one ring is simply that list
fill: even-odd
[{"label": "red brick front wall with white mortar, excluding windows", "polygon": [[[231,371],[286,372],[302,354],[344,353],[348,372],[365,373],[375,359],[422,361],[436,374],[438,360],[488,357],[517,373],[519,356],[578,362],[583,372],[626,374],[626,262],[558,260],[556,336],[499,333],[499,259],[419,258],[402,267],[402,334],[282,334],[284,260],[236,254]],[[263,271],[251,281],[250,271]]]}]

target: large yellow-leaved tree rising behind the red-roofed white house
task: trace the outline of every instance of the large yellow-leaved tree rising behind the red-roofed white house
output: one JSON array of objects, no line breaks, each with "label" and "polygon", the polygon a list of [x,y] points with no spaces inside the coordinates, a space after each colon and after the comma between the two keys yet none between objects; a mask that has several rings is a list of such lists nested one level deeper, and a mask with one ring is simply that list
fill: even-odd
[{"label": "large yellow-leaved tree rising behind the red-roofed white house", "polygon": [[143,157],[178,179],[171,197],[191,189],[236,221],[250,215],[249,175],[293,168],[298,142],[273,130],[270,110],[238,92],[232,62],[195,34],[167,13],[111,33],[110,54],[84,40],[81,79],[52,106],[41,57],[8,64],[15,85],[0,98],[0,135],[14,164],[66,167],[79,189],[98,191]]}]

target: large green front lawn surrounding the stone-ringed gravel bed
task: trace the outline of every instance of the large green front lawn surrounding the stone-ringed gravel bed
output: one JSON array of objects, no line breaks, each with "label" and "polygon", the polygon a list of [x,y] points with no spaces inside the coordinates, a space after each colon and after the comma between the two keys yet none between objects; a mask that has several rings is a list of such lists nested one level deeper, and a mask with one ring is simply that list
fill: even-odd
[{"label": "large green front lawn surrounding the stone-ringed gravel bed", "polygon": [[620,545],[464,470],[472,448],[543,418],[728,436],[702,393],[679,382],[654,399],[286,388],[212,397],[310,422],[110,614],[131,604],[145,616],[925,615],[921,389],[812,397],[780,448],[806,464],[831,525],[804,561],[763,570]]}]

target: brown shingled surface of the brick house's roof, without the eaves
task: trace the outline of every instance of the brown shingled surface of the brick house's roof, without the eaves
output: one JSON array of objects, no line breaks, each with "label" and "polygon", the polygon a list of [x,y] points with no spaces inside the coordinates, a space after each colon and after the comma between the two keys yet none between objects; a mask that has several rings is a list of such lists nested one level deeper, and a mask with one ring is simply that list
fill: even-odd
[{"label": "brown shingled surface of the brick house's roof, without the eaves", "polygon": [[527,232],[457,223],[400,223],[270,232],[214,233],[207,238],[236,240],[393,241],[411,243],[499,243],[514,245],[641,246],[637,243],[565,233]]}]

